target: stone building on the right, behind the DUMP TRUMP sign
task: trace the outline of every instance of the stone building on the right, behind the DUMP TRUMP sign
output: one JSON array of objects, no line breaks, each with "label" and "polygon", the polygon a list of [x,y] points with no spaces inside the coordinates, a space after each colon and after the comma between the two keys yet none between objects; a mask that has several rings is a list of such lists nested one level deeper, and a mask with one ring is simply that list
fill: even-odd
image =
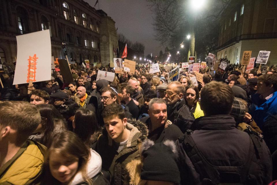
[{"label": "stone building on the right, behind the DUMP TRUMP sign", "polygon": [[271,51],[267,65],[277,64],[277,1],[233,0],[220,18],[217,58],[239,63],[244,51]]}]

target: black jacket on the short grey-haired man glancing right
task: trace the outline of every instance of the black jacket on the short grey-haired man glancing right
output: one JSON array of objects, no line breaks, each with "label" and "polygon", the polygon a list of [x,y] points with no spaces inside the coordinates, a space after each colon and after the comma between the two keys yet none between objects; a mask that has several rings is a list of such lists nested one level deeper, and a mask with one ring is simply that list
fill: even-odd
[{"label": "black jacket on the short grey-haired man glancing right", "polygon": [[[145,123],[149,129],[149,125],[151,124],[149,116],[145,116],[139,119],[139,121]],[[164,126],[165,124],[153,130],[152,132],[149,130],[149,135],[147,138],[154,141],[155,143],[161,143],[165,140],[176,141],[180,136],[184,135],[176,125],[169,124],[166,128],[164,128]]]}]

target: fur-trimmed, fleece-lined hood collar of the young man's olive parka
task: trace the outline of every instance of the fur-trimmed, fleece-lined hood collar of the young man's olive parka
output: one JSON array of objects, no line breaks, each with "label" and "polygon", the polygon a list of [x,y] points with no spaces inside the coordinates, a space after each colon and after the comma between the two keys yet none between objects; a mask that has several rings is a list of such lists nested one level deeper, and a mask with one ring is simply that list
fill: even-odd
[{"label": "fur-trimmed, fleece-lined hood collar of the young man's olive parka", "polygon": [[[134,141],[136,141],[137,139],[140,140],[140,142],[142,142],[143,140],[145,140],[145,138],[147,138],[148,136],[148,129],[147,126],[142,123],[141,121],[136,121],[135,119],[130,119],[128,120],[129,123],[127,123],[126,128],[128,130],[130,130],[130,136],[127,140],[127,147],[131,147],[132,143]],[[137,134],[139,134],[139,138],[135,137]],[[108,135],[108,145],[112,145],[113,144],[113,140],[112,138]],[[137,142],[136,142],[137,143]]]}]

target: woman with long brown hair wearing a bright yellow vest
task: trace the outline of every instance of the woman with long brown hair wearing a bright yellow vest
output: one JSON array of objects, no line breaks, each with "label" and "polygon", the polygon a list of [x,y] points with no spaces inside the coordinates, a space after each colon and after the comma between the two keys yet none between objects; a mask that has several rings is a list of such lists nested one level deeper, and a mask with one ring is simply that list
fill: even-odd
[{"label": "woman with long brown hair wearing a bright yellow vest", "polygon": [[196,86],[186,88],[185,99],[195,119],[204,116],[204,112],[199,105],[199,90]]}]

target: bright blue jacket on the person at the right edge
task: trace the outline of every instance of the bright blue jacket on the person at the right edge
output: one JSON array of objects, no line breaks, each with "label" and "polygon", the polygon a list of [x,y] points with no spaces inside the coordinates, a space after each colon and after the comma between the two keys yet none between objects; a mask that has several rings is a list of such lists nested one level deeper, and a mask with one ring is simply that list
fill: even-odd
[{"label": "bright blue jacket on the person at the right edge", "polygon": [[257,125],[263,129],[266,119],[270,115],[277,115],[277,91],[273,93],[271,98],[263,103],[261,103],[261,99],[259,99],[258,94],[252,95],[251,99],[253,104],[250,114],[252,115],[252,118],[255,120]]}]

